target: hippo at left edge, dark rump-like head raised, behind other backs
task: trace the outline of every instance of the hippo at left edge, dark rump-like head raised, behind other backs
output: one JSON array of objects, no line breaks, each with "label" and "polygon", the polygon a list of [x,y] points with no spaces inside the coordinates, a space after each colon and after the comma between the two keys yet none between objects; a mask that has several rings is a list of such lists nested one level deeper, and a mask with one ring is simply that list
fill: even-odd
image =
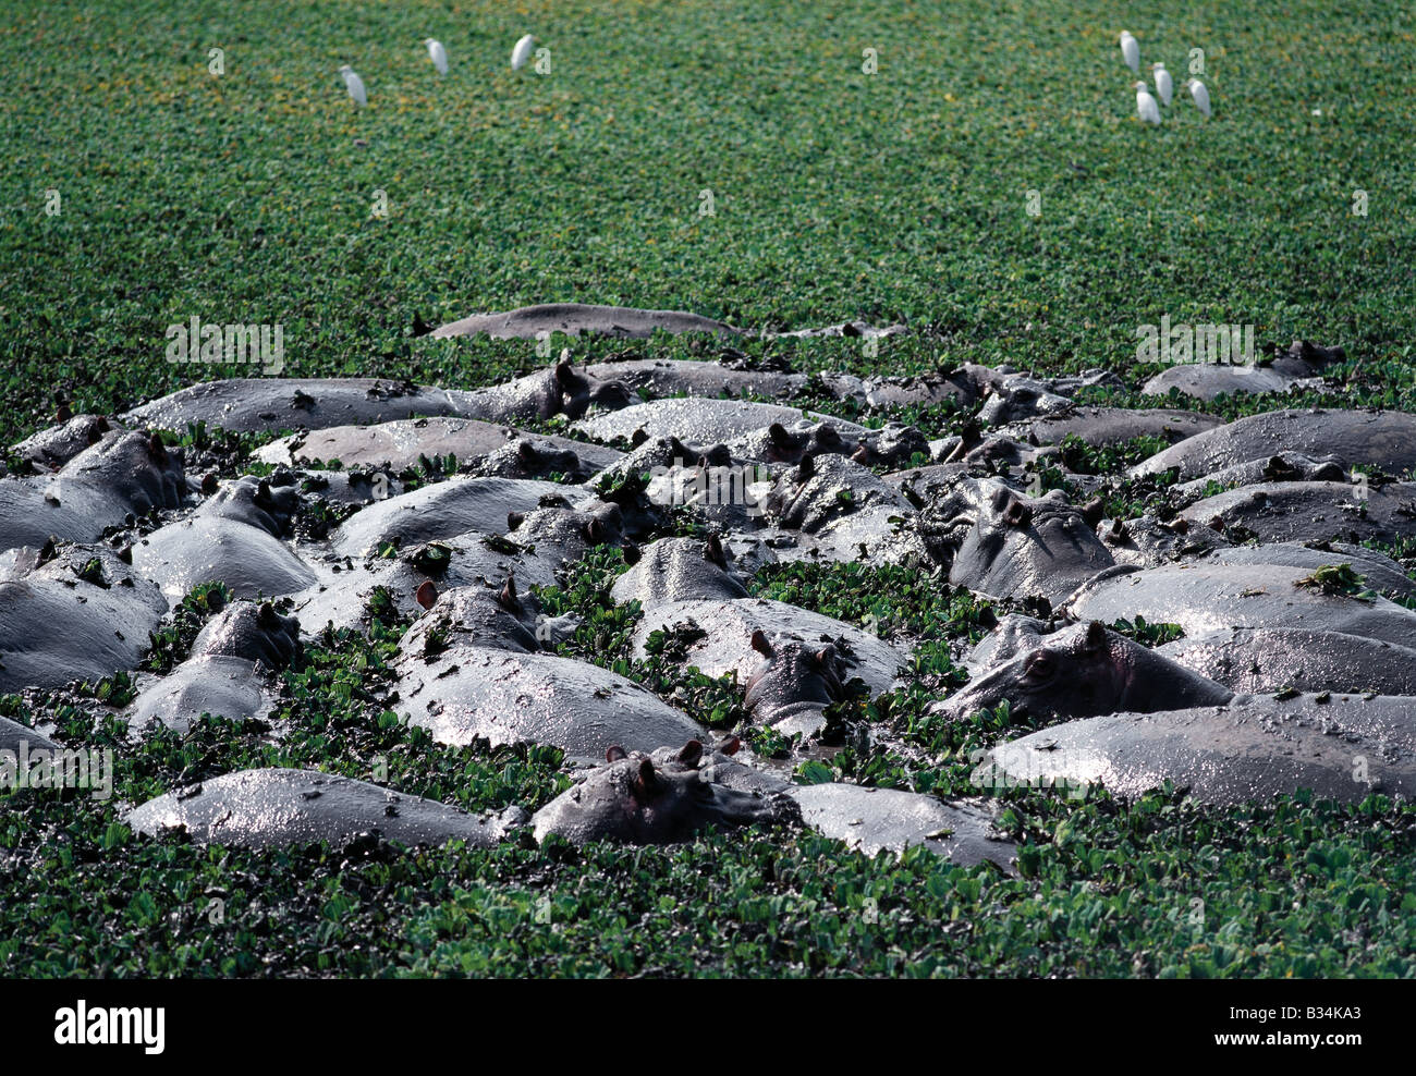
[{"label": "hippo at left edge, dark rump-like head raised, behind other backs", "polygon": [[51,537],[93,541],[127,515],[180,507],[185,494],[181,449],[156,433],[112,430],[51,476],[0,479],[0,551]]}]

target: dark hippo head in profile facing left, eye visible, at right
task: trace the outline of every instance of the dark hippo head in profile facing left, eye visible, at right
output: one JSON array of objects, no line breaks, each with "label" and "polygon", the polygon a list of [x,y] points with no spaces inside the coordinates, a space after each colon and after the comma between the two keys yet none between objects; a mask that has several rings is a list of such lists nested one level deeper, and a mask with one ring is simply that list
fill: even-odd
[{"label": "dark hippo head in profile facing left, eye visible, at right", "polygon": [[1097,620],[1012,643],[1014,653],[932,709],[959,721],[1007,699],[1015,716],[1092,718],[1221,705],[1233,694]]}]

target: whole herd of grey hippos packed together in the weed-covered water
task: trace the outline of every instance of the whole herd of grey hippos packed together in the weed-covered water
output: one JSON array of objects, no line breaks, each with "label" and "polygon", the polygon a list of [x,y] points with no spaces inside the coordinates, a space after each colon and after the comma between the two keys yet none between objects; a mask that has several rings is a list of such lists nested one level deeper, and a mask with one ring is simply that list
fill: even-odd
[{"label": "whole herd of grey hippos packed together in the weed-covered water", "polygon": [[[691,314],[573,306],[440,331],[654,330],[732,333]],[[1154,391],[1274,391],[1337,357],[1294,344],[1247,374],[1165,371]],[[554,745],[579,780],[534,814],[474,817],[347,777],[245,770],[139,806],[130,825],[269,847],[365,832],[489,845],[524,827],[538,840],[653,844],[780,823],[867,852],[926,845],[1008,869],[1014,848],[993,832],[987,799],[794,784],[792,760],[716,740],[634,681],[561,653],[576,622],[545,616],[534,592],[593,546],[622,548],[630,566],[612,597],[641,610],[634,653],[656,631],[691,627],[684,664],[735,672],[748,719],[804,748],[848,689],[902,684],[910,648],[752,597],[748,582],[772,563],[864,561],[939,571],[1000,610],[1025,610],[960,656],[969,682],[933,704],[967,719],[1007,701],[1045,722],[994,746],[980,791],[1100,784],[1126,797],[1174,782],[1218,804],[1298,789],[1342,801],[1413,794],[1416,582],[1364,542],[1416,537],[1416,483],[1403,477],[1416,467],[1416,416],[1287,409],[1223,423],[1073,399],[1114,381],[977,365],[809,378],[735,358],[573,368],[562,355],[481,389],[229,379],[67,418],[14,446],[27,473],[0,479],[0,694],[136,670],[183,596],[221,580],[235,600],[185,661],[137,677],[125,712],[135,732],[262,716],[302,636],[365,629],[377,599],[412,619],[394,663],[399,714],[442,743]],[[807,385],[851,413],[952,401],[976,420],[930,440],[898,422],[804,412],[790,401]],[[564,435],[518,429],[555,416]],[[263,477],[198,476],[156,432],[188,423],[297,433],[258,450]],[[1102,479],[1068,473],[1058,446],[1138,436],[1168,445],[1131,469],[1168,483],[1168,507],[1104,518],[1090,498]],[[449,454],[456,474],[401,484],[404,469]],[[1059,469],[1073,496],[1029,496],[1039,467]],[[738,481],[705,484],[709,471]],[[338,524],[302,528],[316,503]],[[678,513],[707,538],[671,537]],[[1107,627],[1137,617],[1184,636],[1151,648]],[[0,719],[0,748],[18,740],[47,743]]]}]

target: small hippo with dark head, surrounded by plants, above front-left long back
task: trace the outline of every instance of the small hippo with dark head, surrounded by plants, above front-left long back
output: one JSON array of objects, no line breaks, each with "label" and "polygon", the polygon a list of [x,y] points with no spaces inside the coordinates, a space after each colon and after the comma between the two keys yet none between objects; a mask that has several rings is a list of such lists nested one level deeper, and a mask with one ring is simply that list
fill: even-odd
[{"label": "small hippo with dark head, surrounded by plants, above front-left long back", "polygon": [[127,709],[140,729],[159,722],[185,733],[202,714],[245,721],[269,712],[276,685],[272,672],[300,651],[300,623],[280,616],[269,602],[238,602],[197,636],[191,656],[147,685]]}]

